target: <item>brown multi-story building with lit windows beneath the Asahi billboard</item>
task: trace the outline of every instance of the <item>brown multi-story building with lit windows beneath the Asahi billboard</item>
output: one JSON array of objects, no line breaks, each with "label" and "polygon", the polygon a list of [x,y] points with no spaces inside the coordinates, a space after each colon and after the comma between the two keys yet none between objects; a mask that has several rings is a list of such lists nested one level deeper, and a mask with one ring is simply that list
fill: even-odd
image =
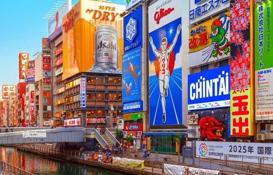
[{"label": "brown multi-story building with lit windows beneath the Asahi billboard", "polygon": [[[86,80],[86,107],[81,107],[81,84]],[[107,126],[109,106],[113,104],[113,122],[122,115],[121,74],[84,72],[65,81],[65,119],[80,118],[79,125]],[[68,120],[67,120],[68,121]],[[76,124],[75,124],[76,125]]]}]

